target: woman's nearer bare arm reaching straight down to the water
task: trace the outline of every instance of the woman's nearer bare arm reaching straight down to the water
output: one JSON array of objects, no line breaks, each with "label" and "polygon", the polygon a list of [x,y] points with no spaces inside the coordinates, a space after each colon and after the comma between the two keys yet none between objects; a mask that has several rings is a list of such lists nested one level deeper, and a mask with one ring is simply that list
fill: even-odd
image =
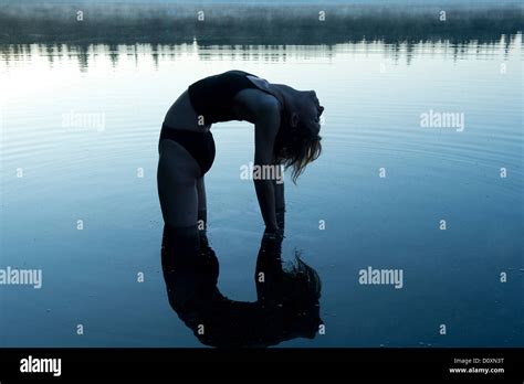
[{"label": "woman's nearer bare arm reaching straight down to the water", "polygon": [[[276,102],[276,100],[275,100]],[[264,103],[258,108],[256,121],[254,125],[254,166],[271,169],[268,167],[280,167],[273,164],[273,146],[280,127],[280,113],[275,103]],[[276,172],[269,172],[277,175]],[[275,179],[269,178],[264,172],[260,172],[260,179],[254,179],[256,198],[259,199],[260,211],[264,218],[265,228],[269,232],[276,232],[276,195]]]}]

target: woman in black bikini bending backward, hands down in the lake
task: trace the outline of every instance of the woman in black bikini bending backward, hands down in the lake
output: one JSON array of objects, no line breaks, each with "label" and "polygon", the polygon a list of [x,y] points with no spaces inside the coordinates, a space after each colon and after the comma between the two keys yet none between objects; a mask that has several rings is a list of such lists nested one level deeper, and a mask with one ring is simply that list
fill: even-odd
[{"label": "woman in black bikini bending backward, hands down in the lake", "polygon": [[[210,127],[214,122],[254,124],[254,164],[292,168],[292,178],[321,153],[319,116],[324,108],[313,90],[270,84],[242,71],[228,71],[196,82],[169,108],[158,145],[158,194],[164,222],[188,228],[207,222],[203,177],[214,159]],[[276,172],[273,172],[276,174]],[[283,183],[254,180],[268,233],[279,231]]]}]

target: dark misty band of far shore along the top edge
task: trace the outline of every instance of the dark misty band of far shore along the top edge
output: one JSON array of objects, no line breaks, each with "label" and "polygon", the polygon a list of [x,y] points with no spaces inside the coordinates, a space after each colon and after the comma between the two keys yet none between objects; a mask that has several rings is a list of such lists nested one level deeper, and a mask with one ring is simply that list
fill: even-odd
[{"label": "dark misty band of far shore along the top edge", "polygon": [[[325,21],[319,20],[321,10]],[[522,10],[516,4],[475,10],[454,6],[444,9],[446,21],[440,20],[440,11],[436,6],[13,3],[0,9],[0,43],[164,45],[196,39],[200,46],[333,45],[363,40],[489,44],[522,31]]]}]

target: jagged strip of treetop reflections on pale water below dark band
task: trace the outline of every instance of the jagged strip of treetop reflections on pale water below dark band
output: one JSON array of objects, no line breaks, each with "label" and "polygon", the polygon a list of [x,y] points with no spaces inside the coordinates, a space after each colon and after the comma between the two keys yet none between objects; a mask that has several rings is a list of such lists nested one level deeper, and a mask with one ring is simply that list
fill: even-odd
[{"label": "jagged strip of treetop reflections on pale water below dark band", "polygon": [[[387,44],[384,41],[369,42],[361,40],[355,43],[342,45],[301,45],[292,46],[273,46],[273,45],[220,45],[205,46],[196,42],[196,45],[186,44],[97,44],[90,42],[75,43],[45,43],[45,44],[0,44],[0,61],[11,66],[20,60],[30,60],[32,55],[43,56],[50,65],[63,61],[74,60],[77,62],[81,72],[87,72],[90,63],[96,56],[105,56],[111,61],[111,65],[116,68],[119,61],[124,57],[132,57],[138,66],[144,56],[150,56],[155,68],[158,68],[160,62],[184,60],[185,54],[193,52],[199,60],[207,61],[221,57],[223,60],[253,60],[255,62],[272,62],[293,60],[294,57],[307,57],[318,60],[331,60],[339,52],[348,50],[377,50],[380,49],[381,54],[386,57],[398,62],[406,60],[407,64],[417,55],[419,49],[439,50],[442,54],[453,61],[475,56],[493,56],[500,54],[501,50],[504,57],[507,57],[512,46],[517,43],[515,35],[500,36],[500,40],[492,43],[480,43],[470,41],[465,43],[452,44],[446,40],[434,40],[431,42],[396,42]],[[374,45],[376,44],[376,45]]]}]

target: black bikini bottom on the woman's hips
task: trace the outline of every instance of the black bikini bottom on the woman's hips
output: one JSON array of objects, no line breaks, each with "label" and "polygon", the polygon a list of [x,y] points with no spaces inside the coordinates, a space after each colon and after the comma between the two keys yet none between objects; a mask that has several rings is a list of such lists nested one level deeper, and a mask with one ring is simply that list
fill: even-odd
[{"label": "black bikini bottom on the woman's hips", "polygon": [[201,175],[211,168],[214,160],[214,140],[210,131],[195,132],[191,130],[172,129],[161,126],[160,140],[169,139],[182,146],[197,160]]}]

